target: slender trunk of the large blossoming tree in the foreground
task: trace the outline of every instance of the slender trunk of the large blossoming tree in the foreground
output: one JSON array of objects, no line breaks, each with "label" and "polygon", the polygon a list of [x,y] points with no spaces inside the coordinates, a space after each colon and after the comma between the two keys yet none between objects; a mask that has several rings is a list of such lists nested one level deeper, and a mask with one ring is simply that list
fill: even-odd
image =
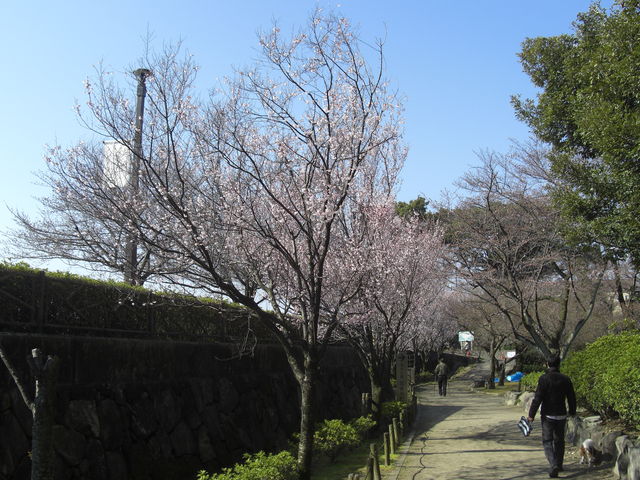
[{"label": "slender trunk of the large blossoming tree in the foreground", "polygon": [[305,353],[305,371],[300,381],[300,443],[298,445],[298,472],[300,480],[310,480],[313,460],[315,361]]}]

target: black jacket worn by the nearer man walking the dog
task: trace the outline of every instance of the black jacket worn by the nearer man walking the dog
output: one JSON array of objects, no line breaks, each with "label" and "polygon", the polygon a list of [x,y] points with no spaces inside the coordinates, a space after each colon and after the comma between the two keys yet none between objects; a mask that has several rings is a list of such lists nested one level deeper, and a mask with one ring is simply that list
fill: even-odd
[{"label": "black jacket worn by the nearer man walking the dog", "polygon": [[[567,403],[569,411],[567,412]],[[538,388],[531,402],[529,417],[534,418],[538,407],[542,404],[540,414],[545,415],[575,415],[576,394],[571,379],[563,375],[557,368],[550,368],[538,380]]]}]

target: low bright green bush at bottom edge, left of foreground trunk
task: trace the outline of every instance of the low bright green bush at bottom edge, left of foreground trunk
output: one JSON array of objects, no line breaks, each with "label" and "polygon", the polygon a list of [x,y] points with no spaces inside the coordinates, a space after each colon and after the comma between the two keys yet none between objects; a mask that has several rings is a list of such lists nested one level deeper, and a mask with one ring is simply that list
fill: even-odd
[{"label": "low bright green bush at bottom edge, left of foreground trunk", "polygon": [[296,459],[289,452],[266,454],[258,452],[244,455],[244,462],[222,473],[198,472],[197,480],[296,480],[298,470]]}]

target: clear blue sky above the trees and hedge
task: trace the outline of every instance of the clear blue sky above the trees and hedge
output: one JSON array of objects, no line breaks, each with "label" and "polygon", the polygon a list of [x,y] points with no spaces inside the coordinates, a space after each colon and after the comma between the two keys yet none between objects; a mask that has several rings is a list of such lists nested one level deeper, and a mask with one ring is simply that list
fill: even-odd
[{"label": "clear blue sky above the trees and hedge", "polygon": [[[610,5],[604,1],[603,5]],[[46,195],[34,172],[44,146],[88,134],[73,106],[100,61],[115,70],[155,45],[183,40],[215,86],[232,67],[252,63],[256,32],[283,30],[317,7],[348,17],[362,37],[386,38],[388,77],[405,98],[410,148],[399,199],[437,199],[475,162],[474,151],[505,151],[526,139],[510,95],[535,95],[517,59],[526,37],[571,32],[587,0],[181,0],[30,1],[0,5],[0,231],[7,206],[37,211]],[[4,258],[0,245],[0,258]]]}]

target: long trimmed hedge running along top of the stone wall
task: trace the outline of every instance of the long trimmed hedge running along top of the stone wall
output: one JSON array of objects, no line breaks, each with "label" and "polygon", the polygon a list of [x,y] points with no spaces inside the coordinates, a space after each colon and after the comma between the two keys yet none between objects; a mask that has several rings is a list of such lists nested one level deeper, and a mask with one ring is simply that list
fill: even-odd
[{"label": "long trimmed hedge running along top of the stone wall", "polygon": [[236,304],[25,264],[0,264],[0,310],[0,329],[8,332],[235,341],[250,325],[257,338],[272,339],[249,310]]}]

